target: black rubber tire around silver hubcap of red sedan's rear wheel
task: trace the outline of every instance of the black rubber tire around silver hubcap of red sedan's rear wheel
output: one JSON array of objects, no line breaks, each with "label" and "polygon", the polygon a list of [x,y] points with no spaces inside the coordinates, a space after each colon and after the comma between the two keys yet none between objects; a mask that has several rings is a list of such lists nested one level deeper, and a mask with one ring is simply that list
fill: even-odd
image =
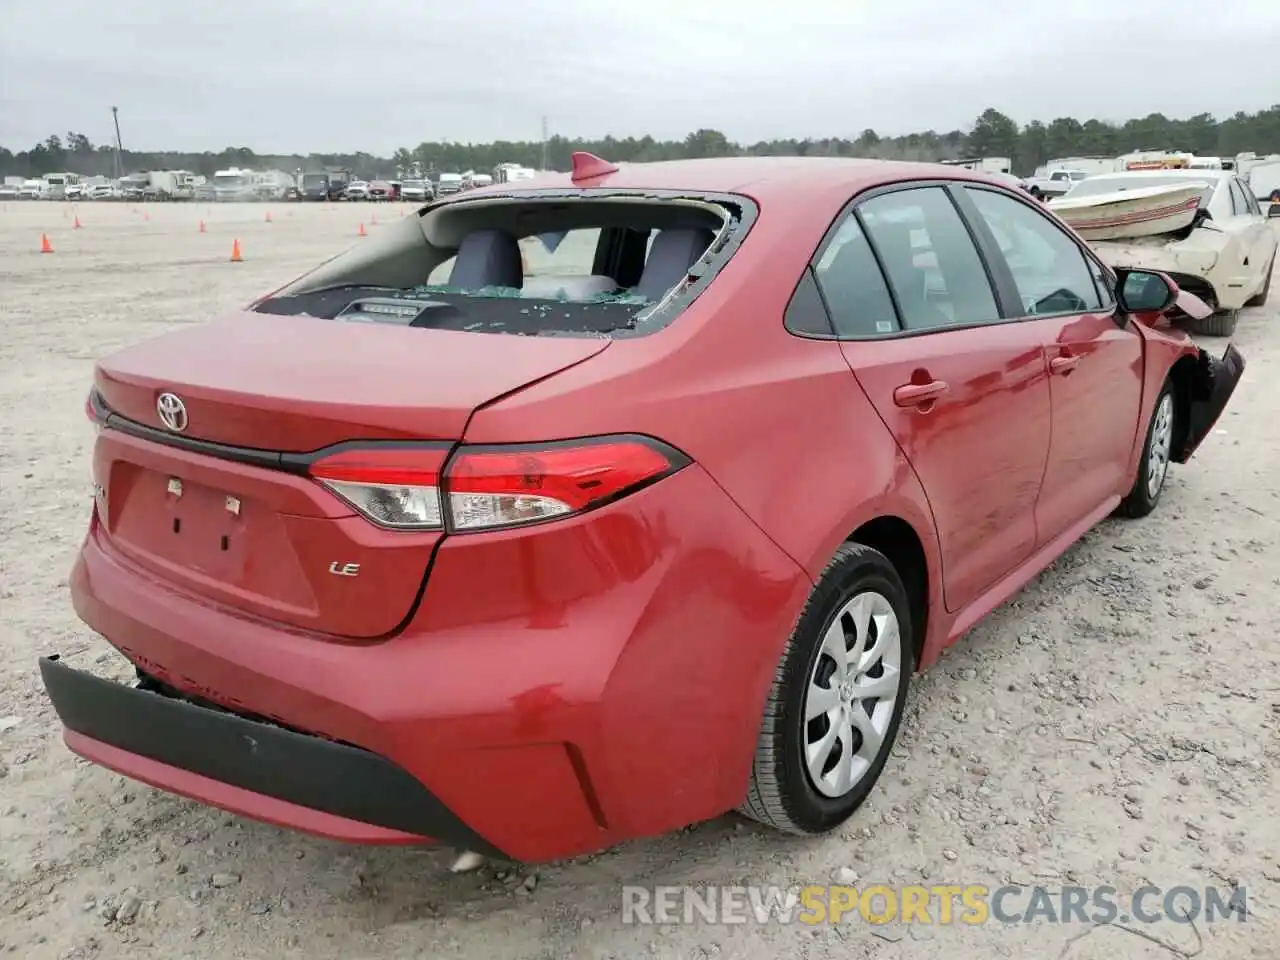
[{"label": "black rubber tire around silver hubcap of red sedan's rear wheel", "polygon": [[[827,628],[845,604],[858,594],[867,593],[876,593],[886,599],[897,618],[897,694],[874,759],[847,792],[832,797],[814,787],[804,759],[805,737],[810,730],[810,724],[804,721],[806,692],[810,676],[822,655]],[[795,631],[783,648],[764,708],[751,782],[746,799],[739,808],[741,813],[786,833],[805,836],[838,827],[861,806],[884,769],[902,721],[915,669],[915,635],[910,617],[906,589],[884,554],[856,543],[846,543],[837,550],[809,595]],[[863,709],[861,701],[855,703],[855,709]],[[824,722],[824,718],[815,718],[814,723],[819,722]],[[858,739],[860,740],[860,735]],[[841,742],[841,750],[849,749],[842,740],[837,742]]]}]

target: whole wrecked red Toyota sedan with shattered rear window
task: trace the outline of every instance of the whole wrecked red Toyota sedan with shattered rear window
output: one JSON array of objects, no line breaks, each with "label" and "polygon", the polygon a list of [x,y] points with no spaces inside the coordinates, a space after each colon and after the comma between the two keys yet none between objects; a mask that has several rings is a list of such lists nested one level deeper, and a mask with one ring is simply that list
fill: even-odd
[{"label": "whole wrecked red Toyota sedan with shattered rear window", "polygon": [[847,819],[911,673],[1140,517],[1243,370],[952,166],[727,159],[425,206],[99,362],[72,750],[360,842],[541,860]]}]

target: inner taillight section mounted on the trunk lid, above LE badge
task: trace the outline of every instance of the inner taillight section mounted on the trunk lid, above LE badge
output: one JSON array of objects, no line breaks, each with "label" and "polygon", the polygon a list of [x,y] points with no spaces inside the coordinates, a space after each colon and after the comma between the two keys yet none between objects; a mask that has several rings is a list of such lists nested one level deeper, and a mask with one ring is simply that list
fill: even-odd
[{"label": "inner taillight section mounted on the trunk lid, above LE badge", "polygon": [[361,447],[321,457],[307,472],[379,526],[440,530],[447,453],[444,447]]}]

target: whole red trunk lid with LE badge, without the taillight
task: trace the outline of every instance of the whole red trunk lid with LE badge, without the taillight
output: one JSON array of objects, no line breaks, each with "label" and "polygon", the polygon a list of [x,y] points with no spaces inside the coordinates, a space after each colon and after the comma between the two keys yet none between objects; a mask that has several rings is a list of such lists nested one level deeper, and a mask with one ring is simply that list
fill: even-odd
[{"label": "whole red trunk lid with LE badge, without the taillight", "polygon": [[[375,639],[412,612],[442,534],[375,526],[294,467],[347,440],[461,439],[471,412],[605,349],[236,315],[101,361],[93,452],[110,543],[184,591],[292,627]],[[187,424],[157,412],[179,397]]]}]

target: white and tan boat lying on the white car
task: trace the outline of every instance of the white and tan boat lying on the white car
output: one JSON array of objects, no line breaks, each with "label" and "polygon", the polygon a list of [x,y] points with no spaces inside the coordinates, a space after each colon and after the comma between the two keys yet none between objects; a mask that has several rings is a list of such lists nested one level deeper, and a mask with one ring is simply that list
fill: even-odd
[{"label": "white and tan boat lying on the white car", "polygon": [[1169,182],[1111,193],[1070,195],[1050,209],[1084,239],[1132,239],[1176,233],[1190,227],[1207,184]]}]

